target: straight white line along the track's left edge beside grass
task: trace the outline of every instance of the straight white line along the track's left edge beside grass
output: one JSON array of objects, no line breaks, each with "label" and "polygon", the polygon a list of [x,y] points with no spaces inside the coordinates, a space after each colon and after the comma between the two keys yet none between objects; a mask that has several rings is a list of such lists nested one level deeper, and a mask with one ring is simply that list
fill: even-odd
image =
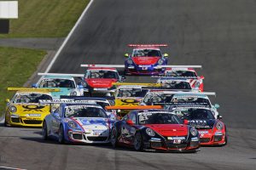
[{"label": "straight white line along the track's left edge beside grass", "polygon": [[84,8],[83,13],[81,14],[81,16],[79,17],[79,20],[76,22],[75,26],[73,26],[72,30],[68,33],[67,37],[65,38],[65,41],[62,42],[61,47],[58,49],[57,53],[55,54],[54,58],[51,60],[51,62],[49,63],[47,69],[45,72],[49,72],[49,70],[51,69],[52,65],[54,65],[55,60],[58,58],[59,54],[61,54],[61,50],[65,47],[65,45],[67,44],[67,41],[69,40],[69,38],[72,36],[73,31],[75,31],[75,29],[77,28],[77,26],[79,26],[80,21],[83,19],[84,14],[86,14],[87,10],[90,8],[90,5],[93,3],[94,0],[90,0],[90,3],[87,4],[86,8]]}]

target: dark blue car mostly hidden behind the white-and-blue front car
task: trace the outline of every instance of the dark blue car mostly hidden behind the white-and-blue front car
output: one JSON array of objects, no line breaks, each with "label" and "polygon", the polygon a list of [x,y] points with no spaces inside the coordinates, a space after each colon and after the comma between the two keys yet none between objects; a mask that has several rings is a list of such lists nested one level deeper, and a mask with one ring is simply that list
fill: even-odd
[{"label": "dark blue car mostly hidden behind the white-and-blue front car", "polygon": [[[104,109],[108,115],[108,117],[111,120],[116,120],[117,116],[116,116],[116,111],[107,111],[105,109],[106,106],[110,106],[111,105],[111,101],[114,98],[92,98],[92,97],[84,97],[84,96],[61,96],[61,100],[72,100],[72,101],[79,101],[79,100],[85,100],[85,101],[92,101],[95,102],[96,105],[101,105],[102,109]],[[110,101],[109,101],[110,100]]]}]

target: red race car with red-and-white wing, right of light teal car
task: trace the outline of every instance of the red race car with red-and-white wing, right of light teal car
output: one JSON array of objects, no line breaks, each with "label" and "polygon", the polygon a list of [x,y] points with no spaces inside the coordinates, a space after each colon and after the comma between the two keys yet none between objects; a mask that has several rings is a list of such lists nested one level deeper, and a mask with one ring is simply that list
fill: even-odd
[{"label": "red race car with red-and-white wing, right of light teal car", "polygon": [[89,67],[80,82],[84,87],[85,96],[110,97],[115,93],[113,82],[123,82],[125,77],[119,76],[119,72],[111,67],[96,67],[94,65],[81,65]]}]

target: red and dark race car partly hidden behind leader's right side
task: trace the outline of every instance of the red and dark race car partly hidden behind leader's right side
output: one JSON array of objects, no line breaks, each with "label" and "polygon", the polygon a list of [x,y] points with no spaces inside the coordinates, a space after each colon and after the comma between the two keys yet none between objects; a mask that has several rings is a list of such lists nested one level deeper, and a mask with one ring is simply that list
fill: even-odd
[{"label": "red and dark race car partly hidden behind leader's right side", "polygon": [[168,111],[176,114],[183,122],[197,128],[201,145],[225,145],[228,142],[226,126],[218,115],[216,119],[210,108],[205,105],[177,104]]}]

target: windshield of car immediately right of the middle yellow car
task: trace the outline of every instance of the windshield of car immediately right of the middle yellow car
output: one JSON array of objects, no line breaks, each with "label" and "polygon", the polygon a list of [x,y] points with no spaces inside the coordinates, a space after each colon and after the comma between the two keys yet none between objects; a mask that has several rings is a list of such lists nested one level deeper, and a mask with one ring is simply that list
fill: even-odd
[{"label": "windshield of car immediately right of the middle yellow car", "polygon": [[146,105],[160,105],[165,103],[170,103],[173,94],[147,94],[143,99],[143,103]]}]

